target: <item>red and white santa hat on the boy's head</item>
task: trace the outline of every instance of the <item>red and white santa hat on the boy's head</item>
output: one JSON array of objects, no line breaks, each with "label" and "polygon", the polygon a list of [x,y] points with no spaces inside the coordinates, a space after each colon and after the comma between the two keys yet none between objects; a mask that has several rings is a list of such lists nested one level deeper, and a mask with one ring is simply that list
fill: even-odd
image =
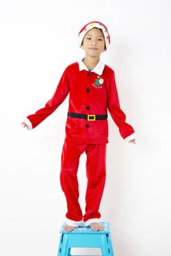
[{"label": "red and white santa hat on the boy's head", "polygon": [[80,30],[80,32],[78,34],[80,47],[82,45],[83,38],[86,35],[87,31],[90,29],[93,29],[93,28],[102,29],[102,32],[104,34],[106,48],[108,48],[110,45],[110,34],[107,30],[107,26],[105,26],[102,22],[99,22],[99,21],[91,21],[91,22],[87,23],[85,26],[83,26],[83,29]]}]

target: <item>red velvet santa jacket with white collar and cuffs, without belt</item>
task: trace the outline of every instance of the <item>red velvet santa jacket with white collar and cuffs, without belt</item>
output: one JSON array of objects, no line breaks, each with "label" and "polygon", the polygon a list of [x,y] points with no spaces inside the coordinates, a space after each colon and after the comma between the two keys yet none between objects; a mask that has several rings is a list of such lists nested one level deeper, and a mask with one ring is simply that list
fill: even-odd
[{"label": "red velvet santa jacket with white collar and cuffs, without belt", "polygon": [[[47,116],[64,102],[69,94],[69,112],[86,115],[106,115],[107,110],[118,126],[123,139],[127,141],[135,136],[134,129],[126,123],[126,115],[121,110],[114,70],[99,59],[96,67],[89,71],[83,60],[69,64],[58,82],[53,97],[44,108],[27,116],[29,129],[37,127]],[[94,117],[93,117],[94,118]],[[67,116],[65,140],[77,143],[108,143],[108,122],[87,120]]]}]

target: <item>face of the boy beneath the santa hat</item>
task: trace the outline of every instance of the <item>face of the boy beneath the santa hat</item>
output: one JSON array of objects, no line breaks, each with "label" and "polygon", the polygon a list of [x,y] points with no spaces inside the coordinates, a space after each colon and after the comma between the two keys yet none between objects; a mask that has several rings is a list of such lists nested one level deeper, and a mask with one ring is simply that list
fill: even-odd
[{"label": "face of the boy beneath the santa hat", "polygon": [[86,51],[86,55],[99,57],[105,50],[105,39],[101,29],[88,30],[83,38],[82,48]]}]

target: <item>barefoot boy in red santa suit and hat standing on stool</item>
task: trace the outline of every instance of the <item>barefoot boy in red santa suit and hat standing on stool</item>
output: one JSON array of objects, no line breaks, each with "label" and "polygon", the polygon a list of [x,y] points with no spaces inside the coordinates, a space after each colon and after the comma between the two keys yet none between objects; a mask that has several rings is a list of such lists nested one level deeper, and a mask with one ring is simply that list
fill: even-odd
[{"label": "barefoot boy in red santa suit and hat standing on stool", "polygon": [[[79,39],[85,58],[66,67],[53,97],[44,108],[27,116],[22,125],[28,129],[37,127],[69,94],[60,173],[61,189],[67,203],[64,230],[72,231],[81,225],[103,230],[104,226],[99,222],[99,205],[106,177],[107,109],[123,139],[135,143],[135,132],[126,123],[126,115],[120,108],[114,70],[100,59],[101,53],[110,45],[107,27],[99,21],[87,23],[80,30]],[[87,155],[88,178],[84,216],[78,202],[77,182],[77,168],[83,152]]]}]

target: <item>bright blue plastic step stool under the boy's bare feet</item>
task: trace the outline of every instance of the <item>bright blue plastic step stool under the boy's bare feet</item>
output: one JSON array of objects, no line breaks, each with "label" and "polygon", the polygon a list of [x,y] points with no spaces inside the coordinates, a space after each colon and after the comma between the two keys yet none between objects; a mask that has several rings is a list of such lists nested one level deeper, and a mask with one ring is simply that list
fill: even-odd
[{"label": "bright blue plastic step stool under the boy's bare feet", "polygon": [[58,256],[70,256],[72,247],[100,248],[102,256],[114,256],[109,222],[100,222],[105,228],[99,231],[91,230],[89,226],[65,231],[63,229],[65,223],[63,223],[60,230]]}]

